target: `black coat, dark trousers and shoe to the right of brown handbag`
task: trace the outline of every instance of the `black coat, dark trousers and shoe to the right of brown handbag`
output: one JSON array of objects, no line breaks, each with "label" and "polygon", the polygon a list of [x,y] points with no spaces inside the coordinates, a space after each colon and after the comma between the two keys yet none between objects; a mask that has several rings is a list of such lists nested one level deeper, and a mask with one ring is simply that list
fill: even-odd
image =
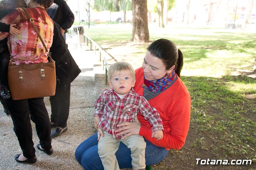
[{"label": "black coat, dark trousers and shoe to the right of brown handbag", "polygon": [[52,59],[56,62],[56,94],[50,97],[51,103],[51,127],[54,138],[67,131],[67,120],[70,107],[70,84],[81,72],[68,51],[64,37],[60,31],[60,25],[54,21],[54,37],[50,48]]}]

